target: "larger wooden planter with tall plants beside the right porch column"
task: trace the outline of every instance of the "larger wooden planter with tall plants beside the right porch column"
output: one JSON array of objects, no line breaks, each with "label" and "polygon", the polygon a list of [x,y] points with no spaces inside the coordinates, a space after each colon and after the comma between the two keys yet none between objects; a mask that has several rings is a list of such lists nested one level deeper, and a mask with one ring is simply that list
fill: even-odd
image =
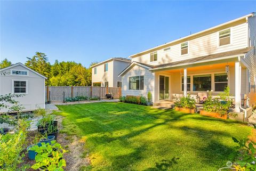
[{"label": "larger wooden planter with tall plants beside the right porch column", "polygon": [[230,88],[226,87],[224,92],[215,98],[212,97],[211,91],[207,91],[208,97],[203,104],[203,110],[200,111],[200,115],[227,119],[228,111],[232,105],[232,100],[229,98],[229,91]]}]

